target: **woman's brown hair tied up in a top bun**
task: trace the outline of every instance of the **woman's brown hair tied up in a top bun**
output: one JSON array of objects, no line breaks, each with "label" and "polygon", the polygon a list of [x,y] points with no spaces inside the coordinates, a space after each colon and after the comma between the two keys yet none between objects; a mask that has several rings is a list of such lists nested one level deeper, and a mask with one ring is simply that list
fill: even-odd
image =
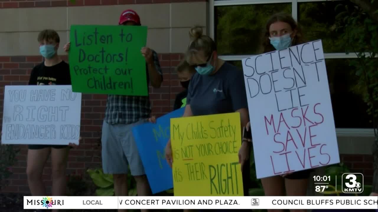
[{"label": "woman's brown hair tied up in a top bun", "polygon": [[192,58],[198,51],[204,51],[206,57],[209,57],[213,51],[217,50],[214,40],[207,35],[203,35],[202,28],[200,26],[194,26],[189,30],[189,36],[191,43],[189,43],[186,52],[186,61],[192,64]]}]

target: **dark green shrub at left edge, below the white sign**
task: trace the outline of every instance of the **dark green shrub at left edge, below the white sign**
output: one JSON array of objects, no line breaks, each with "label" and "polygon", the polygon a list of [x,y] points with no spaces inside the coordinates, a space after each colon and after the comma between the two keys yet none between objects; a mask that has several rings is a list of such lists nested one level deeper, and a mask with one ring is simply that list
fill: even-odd
[{"label": "dark green shrub at left edge, below the white sign", "polygon": [[19,151],[15,145],[0,143],[0,190],[8,185],[7,179],[12,175],[10,167],[17,161],[16,155]]}]

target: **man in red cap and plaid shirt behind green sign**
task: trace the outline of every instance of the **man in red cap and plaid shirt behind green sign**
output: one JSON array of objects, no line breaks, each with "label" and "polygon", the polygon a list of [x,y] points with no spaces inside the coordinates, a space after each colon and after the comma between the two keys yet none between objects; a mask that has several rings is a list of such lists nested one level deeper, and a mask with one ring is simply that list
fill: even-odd
[{"label": "man in red cap and plaid shirt behind green sign", "polygon": [[[118,24],[141,26],[139,15],[132,9],[121,13]],[[64,49],[68,52],[70,43],[67,43]],[[160,88],[163,73],[158,55],[147,47],[141,49],[141,54],[146,58],[146,86],[151,81],[154,88]],[[116,196],[128,195],[127,173],[129,167],[137,184],[138,196],[151,195],[143,163],[132,135],[132,128],[145,123],[150,116],[149,96],[108,95],[101,135],[102,169],[105,174],[113,174]]]}]

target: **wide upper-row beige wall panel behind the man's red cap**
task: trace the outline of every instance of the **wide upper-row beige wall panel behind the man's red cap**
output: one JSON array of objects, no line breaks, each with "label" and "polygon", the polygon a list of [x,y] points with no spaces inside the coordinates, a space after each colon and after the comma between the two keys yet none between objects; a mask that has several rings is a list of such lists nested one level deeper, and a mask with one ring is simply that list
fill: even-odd
[{"label": "wide upper-row beige wall panel behind the man's red cap", "polygon": [[169,4],[68,7],[68,28],[73,24],[118,25],[119,16],[125,9],[134,9],[142,25],[169,28]]}]

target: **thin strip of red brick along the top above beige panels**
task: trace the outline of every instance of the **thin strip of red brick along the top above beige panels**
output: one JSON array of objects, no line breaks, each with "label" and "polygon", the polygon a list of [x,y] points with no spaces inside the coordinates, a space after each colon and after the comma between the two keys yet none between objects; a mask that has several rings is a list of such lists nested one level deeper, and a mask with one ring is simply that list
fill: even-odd
[{"label": "thin strip of red brick along the top above beige panels", "polygon": [[62,6],[98,6],[98,5],[132,5],[173,2],[205,2],[208,0],[0,0],[0,8],[32,8],[32,7],[62,7]]}]

